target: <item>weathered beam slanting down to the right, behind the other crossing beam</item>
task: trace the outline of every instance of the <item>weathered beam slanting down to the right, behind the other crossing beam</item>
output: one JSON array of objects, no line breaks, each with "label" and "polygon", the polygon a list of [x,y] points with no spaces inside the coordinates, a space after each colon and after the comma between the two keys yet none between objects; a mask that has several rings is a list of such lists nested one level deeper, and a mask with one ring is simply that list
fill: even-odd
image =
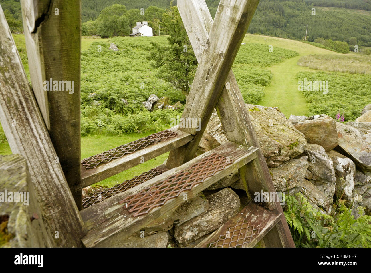
[{"label": "weathered beam slanting down to the right, behind the other crossing beam", "polygon": [[[259,1],[257,0],[255,2],[258,3]],[[207,37],[213,25],[213,19],[209,9],[207,8],[205,0],[178,0],[177,5],[196,58],[200,60],[204,48],[207,46]],[[275,192],[275,187],[269,174],[265,158],[260,149],[259,142],[250,121],[250,116],[245,107],[242,94],[232,70],[229,72],[226,79],[226,85],[224,85],[216,110],[228,140],[247,147],[254,146],[259,148],[259,156],[250,164],[243,166],[239,170],[240,177],[246,185],[247,193],[250,196],[254,196],[255,192],[260,192],[260,189]],[[282,212],[282,207],[279,202],[270,201],[266,202],[265,205],[269,209],[278,209],[279,212]],[[273,229],[280,229],[281,246],[293,247],[294,244],[283,213],[281,218],[282,221]],[[273,233],[274,232],[269,234]],[[270,242],[277,239],[269,235],[267,238],[268,237]],[[270,243],[267,242],[266,245],[269,246]]]}]

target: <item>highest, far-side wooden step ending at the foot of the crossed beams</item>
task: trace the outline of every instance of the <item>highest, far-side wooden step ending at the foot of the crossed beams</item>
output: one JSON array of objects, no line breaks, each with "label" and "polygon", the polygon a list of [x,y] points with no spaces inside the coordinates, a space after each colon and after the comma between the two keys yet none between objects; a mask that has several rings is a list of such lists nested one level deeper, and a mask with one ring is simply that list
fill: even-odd
[{"label": "highest, far-side wooden step ending at the foot of the crossed beams", "polygon": [[[124,170],[128,170],[134,166],[137,166],[140,163],[148,161],[154,157],[163,155],[164,153],[167,153],[173,149],[176,149],[187,144],[193,139],[193,136],[191,134],[178,130],[177,126],[172,127],[168,130],[176,132],[176,135],[173,137],[169,137],[166,140],[160,141],[156,144],[148,145],[144,149],[141,149],[140,147],[139,149],[132,153],[129,153],[116,159],[112,159],[107,163],[99,163],[99,155],[89,157],[89,160],[88,159],[82,160],[81,183],[75,185],[75,190],[79,190],[87,186],[93,185],[94,183],[114,176],[120,172],[123,172]],[[147,139],[147,137],[143,139]],[[145,140],[143,142],[145,142]],[[131,143],[125,144],[125,146]],[[106,153],[108,154],[108,152]],[[105,153],[102,153],[100,155],[104,154]],[[83,164],[83,162],[85,162],[85,164]],[[86,166],[88,166],[88,168],[86,168]]]}]

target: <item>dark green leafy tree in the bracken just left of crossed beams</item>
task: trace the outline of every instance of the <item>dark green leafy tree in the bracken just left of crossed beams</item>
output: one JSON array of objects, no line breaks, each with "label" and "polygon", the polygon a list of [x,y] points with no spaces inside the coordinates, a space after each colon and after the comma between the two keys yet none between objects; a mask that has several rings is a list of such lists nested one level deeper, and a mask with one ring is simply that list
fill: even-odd
[{"label": "dark green leafy tree in the bracken just left of crossed beams", "polygon": [[151,43],[153,50],[148,58],[154,68],[159,68],[158,77],[180,88],[187,97],[198,63],[177,6],[163,14],[162,24],[170,35],[168,46]]}]

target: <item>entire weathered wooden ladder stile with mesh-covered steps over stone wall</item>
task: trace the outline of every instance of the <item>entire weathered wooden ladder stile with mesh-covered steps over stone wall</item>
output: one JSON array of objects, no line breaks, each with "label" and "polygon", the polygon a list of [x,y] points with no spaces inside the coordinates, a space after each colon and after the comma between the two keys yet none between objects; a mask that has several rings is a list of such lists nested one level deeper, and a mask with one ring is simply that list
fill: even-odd
[{"label": "entire weathered wooden ladder stile with mesh-covered steps over stone wall", "polygon": [[[58,17],[51,16],[52,10],[57,4],[65,6],[62,0],[56,0],[52,5],[48,1],[36,2],[21,0],[23,22],[27,26],[25,36],[32,88],[24,70],[21,71],[19,55],[11,52],[14,41],[0,7],[0,29],[11,40],[5,49],[12,62],[5,64],[13,66],[15,75],[19,75],[20,86],[26,90],[22,92],[20,87],[9,84],[9,90],[17,99],[7,101],[9,90],[1,88],[0,78],[0,119],[12,151],[22,154],[28,164],[45,221],[44,233],[51,235],[60,228],[66,232],[62,242],[47,238],[48,246],[112,246],[182,204],[185,201],[183,194],[192,198],[237,170],[250,199],[262,189],[277,195],[231,70],[259,0],[221,0],[214,21],[205,0],[178,0],[181,18],[199,63],[182,118],[200,119],[200,130],[175,126],[159,132],[170,132],[170,137],[146,142],[143,147],[106,161],[97,160],[92,167],[84,164],[86,160],[81,162],[79,136],[81,38],[78,41],[76,37],[81,37],[81,1],[71,1],[70,15]],[[40,14],[47,14],[45,21],[35,25],[34,19]],[[68,23],[69,20],[80,22],[80,27]],[[60,34],[56,25],[64,24],[68,27]],[[62,35],[61,39],[53,39],[58,35]],[[70,35],[74,41],[72,46],[66,42]],[[3,42],[5,44],[5,39]],[[46,55],[48,48],[53,50]],[[55,62],[60,52],[71,54],[64,54],[66,56]],[[58,65],[60,63],[68,65]],[[16,82],[14,76],[9,76],[12,73],[7,75],[8,78],[4,78],[8,82]],[[44,91],[42,83],[49,78],[78,82],[75,93]],[[19,108],[25,108],[30,114],[21,116],[19,127],[12,128],[11,117]],[[194,158],[214,109],[228,141]],[[22,135],[19,133],[21,129],[29,133]],[[147,138],[151,139],[151,136]],[[37,143],[36,139],[41,141]],[[66,144],[66,141],[70,143]],[[31,147],[26,142],[37,144]],[[125,145],[131,144],[135,146],[135,142]],[[32,151],[43,156],[36,156]],[[158,167],[161,172],[156,173],[157,176],[139,181],[82,209],[82,188],[137,166],[142,163],[142,158],[147,161],[167,152],[170,152],[167,163]],[[111,150],[105,153],[108,157],[112,155]],[[59,161],[53,164],[55,158]],[[44,165],[46,169],[42,168]],[[45,181],[40,181],[38,174]],[[48,187],[48,183],[55,187]],[[40,187],[50,192],[49,199],[43,196]],[[59,196],[63,198],[58,199]],[[48,208],[53,205],[60,210],[57,208],[50,213]],[[66,222],[67,213],[73,222]],[[294,247],[278,195],[263,205],[251,202],[197,247],[253,247],[262,239],[267,247]]]}]

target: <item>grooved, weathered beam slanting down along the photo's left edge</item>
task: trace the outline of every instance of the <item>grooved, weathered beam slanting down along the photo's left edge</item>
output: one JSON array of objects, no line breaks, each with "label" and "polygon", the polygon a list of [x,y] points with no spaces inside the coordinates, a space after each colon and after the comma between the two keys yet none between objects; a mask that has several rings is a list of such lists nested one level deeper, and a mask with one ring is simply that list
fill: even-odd
[{"label": "grooved, weathered beam slanting down along the photo's left edge", "polygon": [[[81,246],[85,226],[0,8],[0,121],[10,149],[27,162],[51,246]],[[59,237],[57,238],[56,231]]]}]

